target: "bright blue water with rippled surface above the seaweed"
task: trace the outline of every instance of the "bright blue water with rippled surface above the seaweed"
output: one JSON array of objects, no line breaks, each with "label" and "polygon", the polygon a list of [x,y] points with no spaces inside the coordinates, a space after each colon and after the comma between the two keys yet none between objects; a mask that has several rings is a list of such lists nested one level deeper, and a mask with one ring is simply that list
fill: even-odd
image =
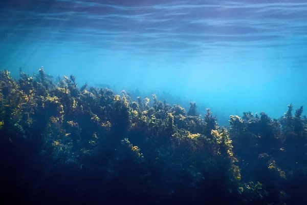
[{"label": "bright blue water with rippled surface above the seaweed", "polygon": [[0,69],[164,92],[224,122],[306,106],[306,51],[305,1],[0,1]]}]

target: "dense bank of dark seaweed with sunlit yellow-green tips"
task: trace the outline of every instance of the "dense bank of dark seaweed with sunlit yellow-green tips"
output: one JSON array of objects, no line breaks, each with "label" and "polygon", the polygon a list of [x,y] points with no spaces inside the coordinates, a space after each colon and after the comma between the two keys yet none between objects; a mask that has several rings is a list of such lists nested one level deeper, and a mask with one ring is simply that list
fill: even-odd
[{"label": "dense bank of dark seaweed with sunlit yellow-green tips", "polygon": [[307,202],[302,107],[232,115],[224,128],[195,103],[134,101],[43,68],[1,71],[0,103],[1,195],[12,203]]}]

